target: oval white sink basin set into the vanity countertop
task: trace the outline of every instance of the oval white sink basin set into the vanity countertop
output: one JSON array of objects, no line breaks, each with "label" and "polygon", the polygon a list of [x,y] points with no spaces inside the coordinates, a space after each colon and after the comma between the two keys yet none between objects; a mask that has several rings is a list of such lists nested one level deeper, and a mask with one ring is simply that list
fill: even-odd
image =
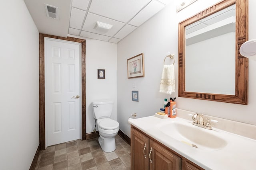
[{"label": "oval white sink basin set into the vanity countertop", "polygon": [[196,145],[198,149],[219,150],[227,145],[219,132],[197,127],[189,122],[171,121],[157,127],[165,135],[187,145]]}]

